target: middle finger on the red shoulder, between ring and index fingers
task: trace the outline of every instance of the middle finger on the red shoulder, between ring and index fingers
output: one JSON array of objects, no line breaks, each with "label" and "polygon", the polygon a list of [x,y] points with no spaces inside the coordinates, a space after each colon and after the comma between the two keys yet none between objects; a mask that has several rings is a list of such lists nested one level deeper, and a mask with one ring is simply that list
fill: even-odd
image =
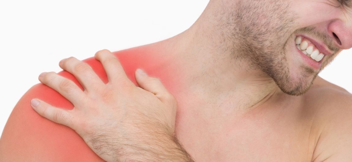
[{"label": "middle finger on the red shoulder, between ring and index fingers", "polygon": [[83,88],[88,91],[94,91],[97,85],[104,84],[104,82],[93,71],[92,67],[90,67],[88,63],[77,60],[74,57],[61,60],[59,66],[73,74],[81,83]]}]

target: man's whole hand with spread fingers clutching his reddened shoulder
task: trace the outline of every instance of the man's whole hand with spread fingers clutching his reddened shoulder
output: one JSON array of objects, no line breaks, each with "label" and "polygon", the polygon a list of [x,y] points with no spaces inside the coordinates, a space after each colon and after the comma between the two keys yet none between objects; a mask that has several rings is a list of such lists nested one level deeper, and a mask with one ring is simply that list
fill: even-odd
[{"label": "man's whole hand with spread fingers clutching his reddened shoulder", "polygon": [[[106,161],[163,161],[168,159],[153,158],[175,156],[177,151],[185,154],[174,134],[177,102],[161,81],[137,69],[140,87],[136,87],[110,51],[97,52],[95,59],[106,71],[107,84],[87,63],[73,57],[64,59],[59,66],[73,74],[84,91],[54,72],[42,73],[40,82],[63,95],[74,108],[57,108],[37,99],[37,103],[31,102],[34,110],[74,129]],[[165,149],[172,151],[164,153]]]}]

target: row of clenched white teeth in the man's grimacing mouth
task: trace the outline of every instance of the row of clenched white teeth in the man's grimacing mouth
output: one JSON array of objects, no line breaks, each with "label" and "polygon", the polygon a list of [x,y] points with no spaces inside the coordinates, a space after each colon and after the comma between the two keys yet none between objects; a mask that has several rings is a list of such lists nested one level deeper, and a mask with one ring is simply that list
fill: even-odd
[{"label": "row of clenched white teeth in the man's grimacing mouth", "polygon": [[320,61],[323,59],[324,54],[320,53],[318,49],[314,49],[314,45],[308,45],[308,41],[303,41],[302,42],[302,36],[297,36],[295,42],[296,46],[299,50],[301,50],[304,54],[310,55],[310,58],[314,59],[315,61]]}]

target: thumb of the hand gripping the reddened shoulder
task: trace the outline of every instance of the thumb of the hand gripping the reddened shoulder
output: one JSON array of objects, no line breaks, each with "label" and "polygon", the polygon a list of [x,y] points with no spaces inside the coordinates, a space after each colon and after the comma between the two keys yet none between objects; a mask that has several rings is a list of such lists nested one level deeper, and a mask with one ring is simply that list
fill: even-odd
[{"label": "thumb of the hand gripping the reddened shoulder", "polygon": [[158,78],[148,76],[142,69],[137,69],[134,75],[140,88],[155,94],[164,103],[176,102],[175,97],[169,93]]}]

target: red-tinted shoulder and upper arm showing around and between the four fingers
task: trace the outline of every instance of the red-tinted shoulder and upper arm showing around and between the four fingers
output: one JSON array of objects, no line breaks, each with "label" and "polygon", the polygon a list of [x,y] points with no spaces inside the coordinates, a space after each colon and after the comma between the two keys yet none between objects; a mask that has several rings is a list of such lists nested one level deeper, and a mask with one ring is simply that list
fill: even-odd
[{"label": "red-tinted shoulder and upper arm showing around and between the four fingers", "polygon": [[[107,82],[101,63],[94,58],[84,60]],[[82,86],[66,71],[58,73]],[[0,161],[103,161],[66,126],[51,122],[30,106],[33,98],[72,109],[73,104],[55,90],[39,83],[30,88],[14,107],[0,139]]]}]

